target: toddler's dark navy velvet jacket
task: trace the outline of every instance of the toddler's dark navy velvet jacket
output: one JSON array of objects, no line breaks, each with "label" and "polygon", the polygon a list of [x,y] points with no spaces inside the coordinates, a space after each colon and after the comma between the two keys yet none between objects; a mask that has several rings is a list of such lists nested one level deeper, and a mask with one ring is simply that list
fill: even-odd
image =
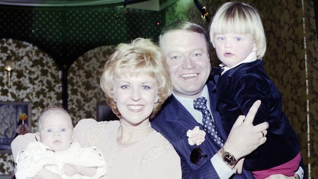
[{"label": "toddler's dark navy velvet jacket", "polygon": [[245,169],[269,169],[296,157],[299,152],[296,134],[282,112],[281,94],[265,73],[261,60],[227,70],[214,89],[227,135],[239,115],[246,115],[256,100],[262,101],[253,124],[269,123],[267,141],[245,158]]}]

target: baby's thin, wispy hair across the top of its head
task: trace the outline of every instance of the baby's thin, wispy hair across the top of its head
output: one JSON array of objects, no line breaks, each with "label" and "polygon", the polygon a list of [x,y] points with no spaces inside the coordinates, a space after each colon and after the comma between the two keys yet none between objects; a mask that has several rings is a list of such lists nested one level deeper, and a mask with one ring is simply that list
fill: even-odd
[{"label": "baby's thin, wispy hair across the top of its head", "polygon": [[43,126],[42,126],[43,119],[52,113],[63,113],[63,115],[65,115],[65,118],[69,121],[71,128],[73,128],[72,119],[70,118],[69,113],[65,109],[58,107],[56,105],[53,105],[53,107],[48,108],[44,112],[41,113],[41,115],[39,117],[39,123],[38,123],[38,131],[39,132],[41,132],[41,130],[43,129]]}]

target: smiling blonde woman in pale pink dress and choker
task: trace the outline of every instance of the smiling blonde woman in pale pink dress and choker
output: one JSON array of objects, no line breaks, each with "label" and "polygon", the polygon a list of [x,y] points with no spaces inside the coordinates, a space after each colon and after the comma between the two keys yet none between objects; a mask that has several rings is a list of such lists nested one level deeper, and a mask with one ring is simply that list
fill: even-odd
[{"label": "smiling blonde woman in pale pink dress and choker", "polygon": [[[180,157],[149,122],[172,93],[159,47],[142,38],[119,44],[105,64],[100,85],[120,121],[83,119],[74,140],[101,150],[107,163],[103,179],[181,179]],[[21,140],[13,142],[13,153],[22,148]]]}]

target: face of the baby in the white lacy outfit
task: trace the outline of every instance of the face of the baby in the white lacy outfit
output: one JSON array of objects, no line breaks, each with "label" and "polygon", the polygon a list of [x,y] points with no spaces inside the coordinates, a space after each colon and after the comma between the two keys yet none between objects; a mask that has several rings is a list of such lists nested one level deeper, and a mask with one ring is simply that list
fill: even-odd
[{"label": "face of the baby in the white lacy outfit", "polygon": [[40,141],[54,151],[64,151],[73,140],[73,128],[61,112],[50,113],[42,121]]}]

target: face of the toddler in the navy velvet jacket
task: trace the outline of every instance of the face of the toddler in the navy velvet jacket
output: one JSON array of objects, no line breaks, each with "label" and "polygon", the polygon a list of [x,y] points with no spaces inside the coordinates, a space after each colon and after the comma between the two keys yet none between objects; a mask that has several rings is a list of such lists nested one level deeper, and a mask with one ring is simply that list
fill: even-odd
[{"label": "face of the toddler in the navy velvet jacket", "polygon": [[213,40],[218,58],[227,67],[235,66],[257,50],[250,34],[217,33],[214,34]]}]

